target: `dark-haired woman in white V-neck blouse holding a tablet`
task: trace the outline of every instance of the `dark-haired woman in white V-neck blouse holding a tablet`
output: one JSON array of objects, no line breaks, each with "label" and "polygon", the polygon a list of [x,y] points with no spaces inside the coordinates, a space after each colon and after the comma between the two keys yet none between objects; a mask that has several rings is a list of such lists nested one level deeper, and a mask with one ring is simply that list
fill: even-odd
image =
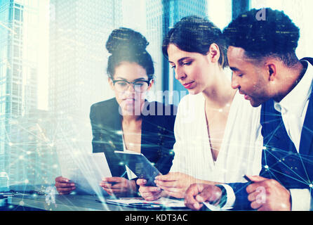
[{"label": "dark-haired woman in white V-neck blouse holding a tablet", "polygon": [[182,18],[164,39],[163,52],[189,95],[178,105],[171,172],[156,176],[157,187],[138,179],[142,197],[183,198],[190,184],[239,182],[244,174],[258,174],[260,108],[232,89],[218,27],[204,18]]}]

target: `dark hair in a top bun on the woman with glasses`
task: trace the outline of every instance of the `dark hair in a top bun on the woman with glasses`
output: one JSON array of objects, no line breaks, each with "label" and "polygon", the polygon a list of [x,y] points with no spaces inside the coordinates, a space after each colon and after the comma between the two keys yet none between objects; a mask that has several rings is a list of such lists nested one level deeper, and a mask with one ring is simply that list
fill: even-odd
[{"label": "dark hair in a top bun on the woman with glasses", "polygon": [[116,66],[122,62],[138,63],[147,72],[149,79],[153,78],[154,66],[152,57],[146,51],[149,45],[147,39],[139,32],[120,27],[109,35],[105,47],[112,55],[107,62],[107,74],[113,78]]}]

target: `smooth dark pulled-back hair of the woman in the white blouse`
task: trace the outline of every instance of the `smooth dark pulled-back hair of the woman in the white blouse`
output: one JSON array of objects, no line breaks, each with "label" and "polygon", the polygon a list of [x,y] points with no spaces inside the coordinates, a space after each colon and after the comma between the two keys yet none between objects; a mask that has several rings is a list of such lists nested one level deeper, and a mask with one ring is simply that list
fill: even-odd
[{"label": "smooth dark pulled-back hair of the woman in the white blouse", "polygon": [[175,44],[182,51],[197,52],[205,56],[213,43],[217,44],[220,49],[218,63],[225,68],[227,48],[222,32],[207,19],[191,15],[182,18],[168,32],[163,41],[162,51],[168,58],[168,45]]}]

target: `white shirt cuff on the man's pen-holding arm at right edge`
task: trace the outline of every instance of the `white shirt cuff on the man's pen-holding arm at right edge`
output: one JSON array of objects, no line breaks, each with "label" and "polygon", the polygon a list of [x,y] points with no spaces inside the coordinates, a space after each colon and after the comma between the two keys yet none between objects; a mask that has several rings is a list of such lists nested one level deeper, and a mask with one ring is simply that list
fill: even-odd
[{"label": "white shirt cuff on the man's pen-holding arm at right edge", "polygon": [[311,194],[309,189],[289,189],[291,194],[291,211],[309,211]]}]

